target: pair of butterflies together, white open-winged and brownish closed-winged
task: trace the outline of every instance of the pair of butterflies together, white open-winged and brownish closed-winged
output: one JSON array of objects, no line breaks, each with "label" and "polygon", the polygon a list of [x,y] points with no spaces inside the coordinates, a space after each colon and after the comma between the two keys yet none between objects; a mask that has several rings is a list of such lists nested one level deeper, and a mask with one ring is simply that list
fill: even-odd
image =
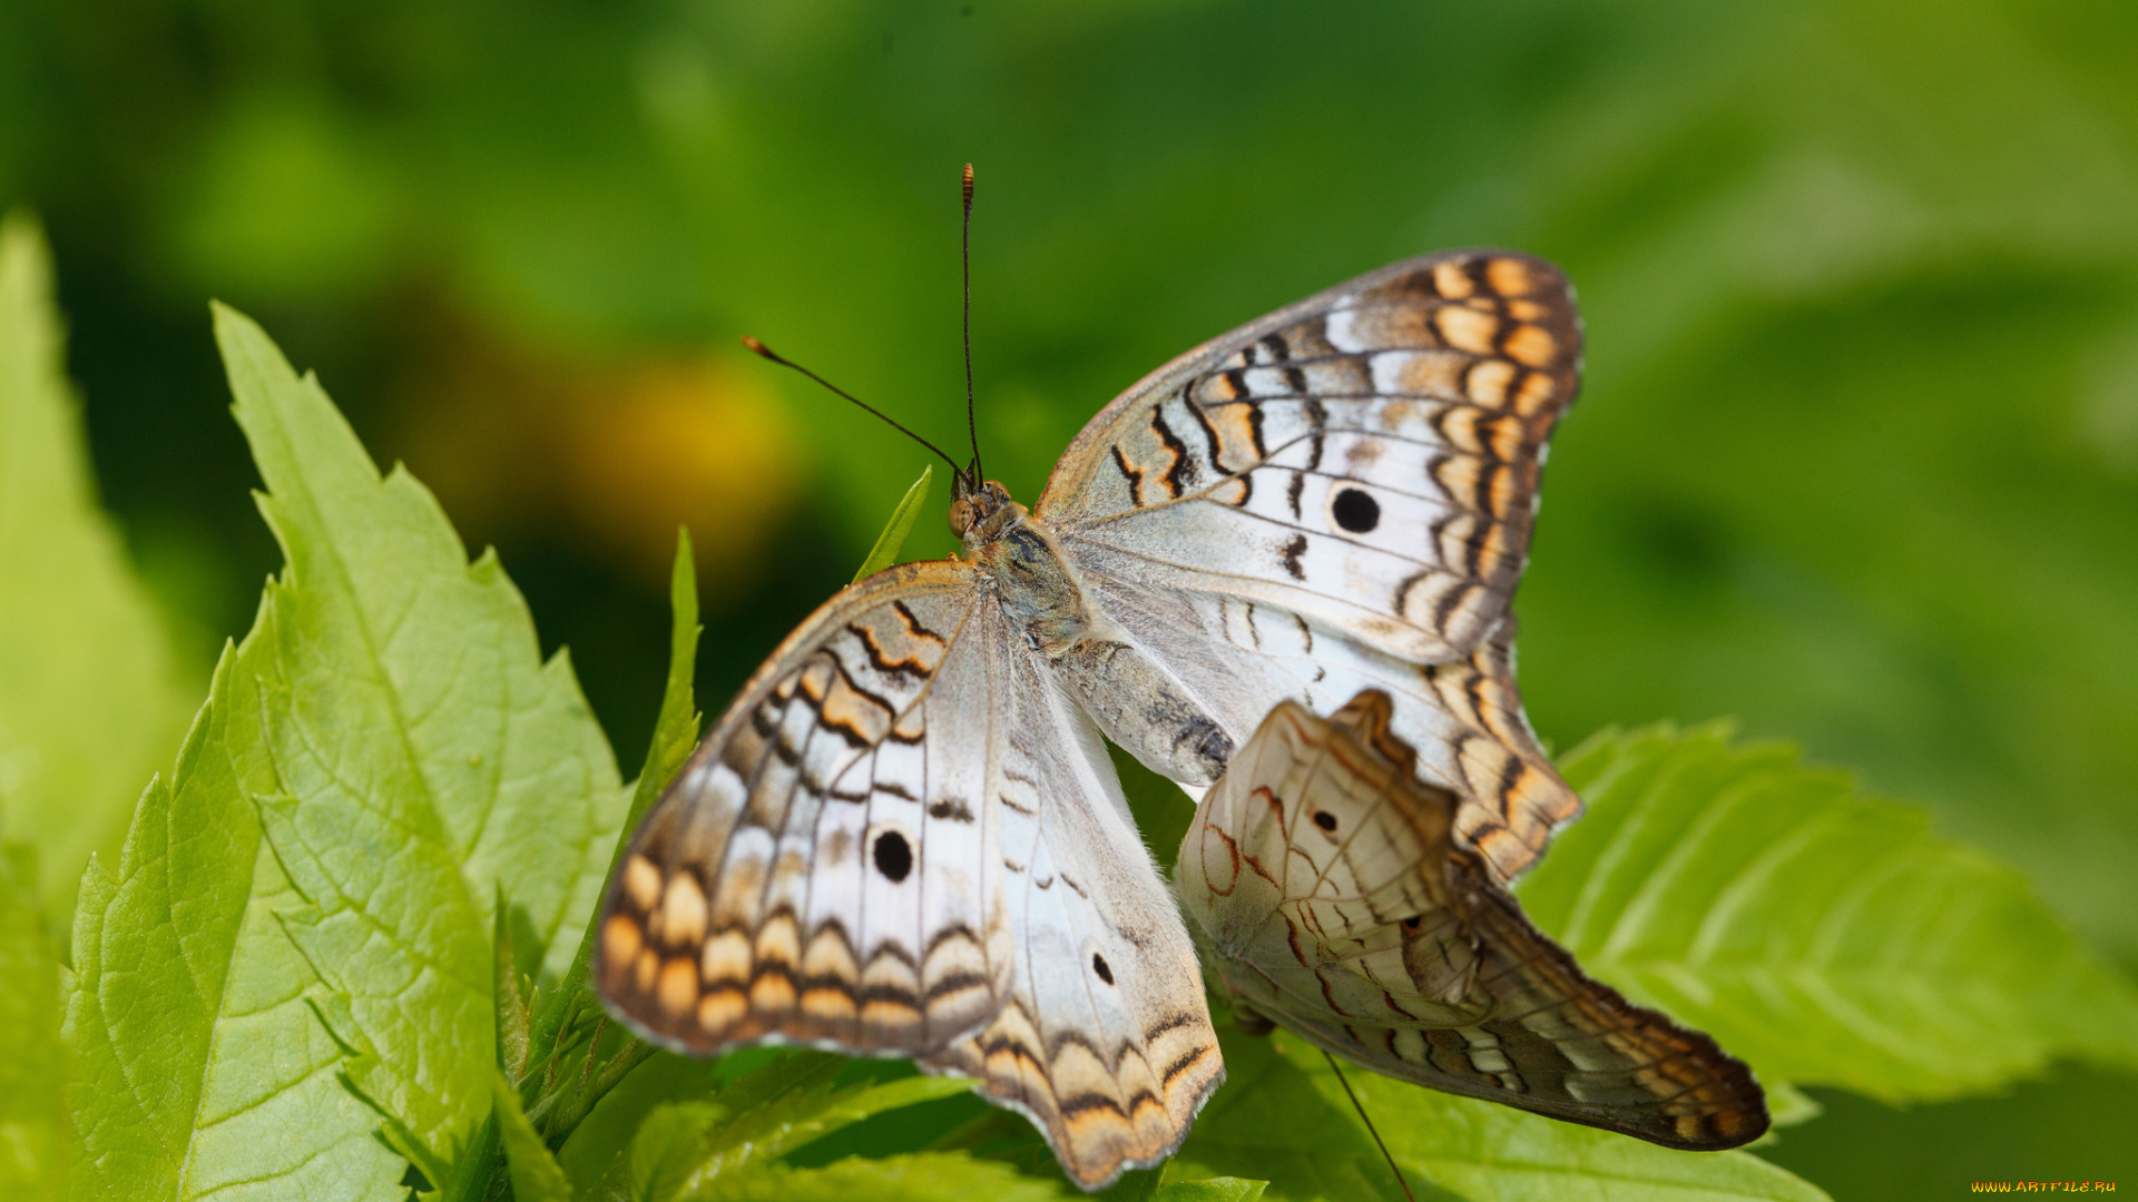
[{"label": "pair of butterflies together, white open-winged and brownish closed-winged", "polygon": [[[1760,1136],[1745,1065],[1505,892],[1580,813],[1509,616],[1578,372],[1556,267],[1435,255],[1159,368],[1028,511],[975,462],[966,558],[817,610],[648,813],[603,997],[682,1052],[973,1076],[1086,1189],[1172,1155],[1225,1076],[1197,937],[1244,1022],[1353,1063],[1680,1149]],[[1172,892],[1101,736],[1206,789]]]}]

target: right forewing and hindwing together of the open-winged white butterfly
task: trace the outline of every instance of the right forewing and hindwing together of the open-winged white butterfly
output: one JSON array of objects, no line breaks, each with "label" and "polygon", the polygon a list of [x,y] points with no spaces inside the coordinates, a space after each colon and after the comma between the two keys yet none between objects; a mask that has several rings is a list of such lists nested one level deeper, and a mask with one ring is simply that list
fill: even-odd
[{"label": "right forewing and hindwing together of the open-winged white butterfly", "polygon": [[[1146,376],[1035,513],[1120,642],[1236,744],[1283,699],[1394,695],[1426,776],[1465,796],[1458,836],[1512,881],[1580,813],[1522,716],[1507,612],[1578,368],[1550,263],[1411,259]],[[1080,695],[1107,723],[1103,684]],[[1105,729],[1208,781],[1167,757],[1180,731]]]}]

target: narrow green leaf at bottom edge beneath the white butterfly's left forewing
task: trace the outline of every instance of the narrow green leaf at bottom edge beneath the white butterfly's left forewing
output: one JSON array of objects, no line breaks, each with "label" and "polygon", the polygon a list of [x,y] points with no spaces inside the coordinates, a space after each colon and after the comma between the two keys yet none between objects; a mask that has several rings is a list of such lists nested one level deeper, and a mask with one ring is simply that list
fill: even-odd
[{"label": "narrow green leaf at bottom edge beneath the white butterfly's left forewing", "polygon": [[845,1057],[795,1052],[738,1078],[712,1101],[656,1108],[631,1153],[633,1198],[688,1198],[872,1114],[973,1087],[936,1076],[836,1087],[847,1065]]}]

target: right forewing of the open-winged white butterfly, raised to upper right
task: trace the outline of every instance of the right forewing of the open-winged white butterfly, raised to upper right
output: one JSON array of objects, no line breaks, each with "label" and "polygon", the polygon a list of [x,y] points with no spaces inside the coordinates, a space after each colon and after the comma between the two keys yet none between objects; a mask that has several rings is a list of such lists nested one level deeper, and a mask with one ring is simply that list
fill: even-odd
[{"label": "right forewing of the open-winged white butterfly, raised to upper right", "polygon": [[1131,580],[1462,659],[1522,575],[1580,344],[1541,259],[1396,263],[1146,376],[1078,434],[1035,513],[1133,560]]}]

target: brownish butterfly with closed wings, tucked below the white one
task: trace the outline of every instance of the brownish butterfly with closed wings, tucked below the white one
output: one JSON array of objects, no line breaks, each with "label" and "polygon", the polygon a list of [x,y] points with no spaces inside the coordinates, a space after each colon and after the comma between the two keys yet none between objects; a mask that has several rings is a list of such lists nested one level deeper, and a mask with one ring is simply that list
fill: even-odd
[{"label": "brownish butterfly with closed wings, tucked below the white one", "polygon": [[1757,1138],[1713,1039],[1625,1001],[1450,838],[1390,704],[1279,706],[1210,789],[1176,888],[1234,999],[1375,1072],[1674,1149]]}]

